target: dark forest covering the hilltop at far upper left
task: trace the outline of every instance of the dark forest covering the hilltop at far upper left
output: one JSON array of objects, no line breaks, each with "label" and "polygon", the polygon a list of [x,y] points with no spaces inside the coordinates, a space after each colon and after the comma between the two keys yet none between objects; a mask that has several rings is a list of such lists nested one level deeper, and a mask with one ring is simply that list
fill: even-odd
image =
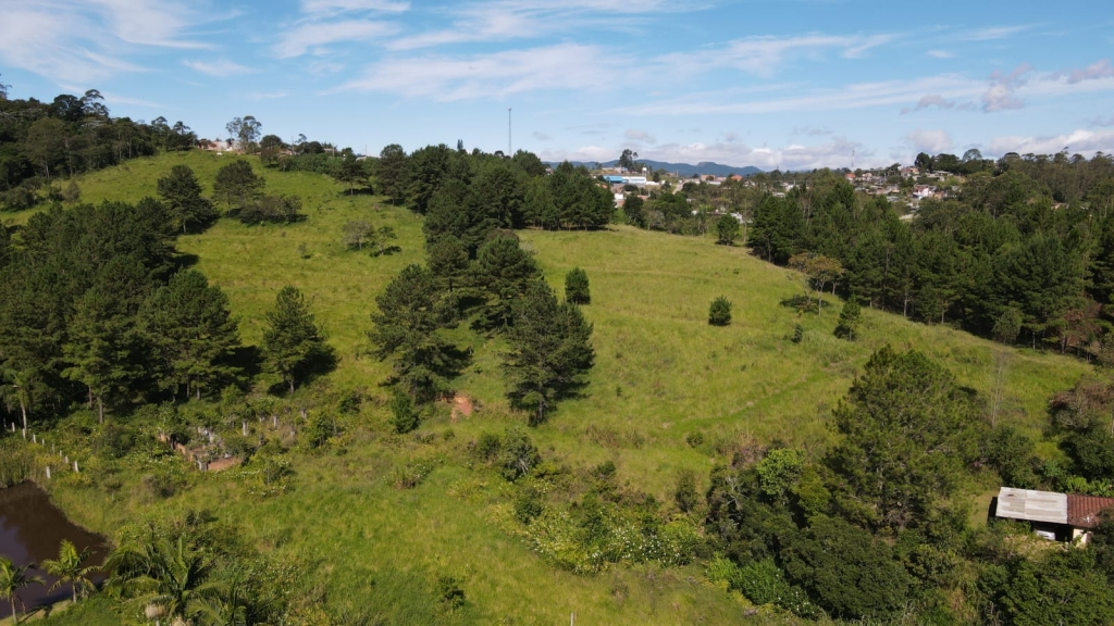
[{"label": "dark forest covering the hilltop at far upper left", "polygon": [[51,185],[61,178],[196,145],[180,121],[111,117],[96,89],[51,102],[0,97],[0,204],[21,209],[61,199],[62,187]]}]

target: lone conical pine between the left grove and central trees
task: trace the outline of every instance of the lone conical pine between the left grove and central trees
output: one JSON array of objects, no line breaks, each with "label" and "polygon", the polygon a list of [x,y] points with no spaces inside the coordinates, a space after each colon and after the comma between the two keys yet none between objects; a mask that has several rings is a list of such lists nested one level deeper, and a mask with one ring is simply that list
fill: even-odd
[{"label": "lone conical pine between the left grove and central trees", "polygon": [[307,371],[333,358],[324,332],[313,321],[305,296],[294,286],[278,291],[274,311],[266,315],[263,331],[263,361],[267,370],[282,376],[294,393],[294,383]]}]

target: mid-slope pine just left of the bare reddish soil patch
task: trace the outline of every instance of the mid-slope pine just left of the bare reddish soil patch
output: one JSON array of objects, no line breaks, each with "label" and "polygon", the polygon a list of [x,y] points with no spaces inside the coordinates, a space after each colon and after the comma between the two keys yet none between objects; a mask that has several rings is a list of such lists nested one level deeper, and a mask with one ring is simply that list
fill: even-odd
[{"label": "mid-slope pine just left of the bare reddish soil patch", "polygon": [[394,378],[411,399],[426,401],[444,389],[452,370],[452,346],[438,334],[450,319],[438,281],[420,265],[408,265],[375,297],[368,333],[380,359],[394,356]]}]

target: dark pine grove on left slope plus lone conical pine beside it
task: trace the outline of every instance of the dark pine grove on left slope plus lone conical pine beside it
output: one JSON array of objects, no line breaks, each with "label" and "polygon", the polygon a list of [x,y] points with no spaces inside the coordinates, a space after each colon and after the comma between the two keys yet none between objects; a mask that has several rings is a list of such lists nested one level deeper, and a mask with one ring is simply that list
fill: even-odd
[{"label": "dark pine grove on left slope plus lone conical pine beside it", "polygon": [[[75,401],[96,404],[104,419],[106,405],[248,382],[244,372],[257,363],[227,296],[175,251],[189,222],[180,197],[167,199],[56,205],[16,241],[0,226],[0,394],[25,424],[28,413],[61,414]],[[267,327],[263,364],[291,391],[329,366],[331,351],[296,288],[280,292]]]}]

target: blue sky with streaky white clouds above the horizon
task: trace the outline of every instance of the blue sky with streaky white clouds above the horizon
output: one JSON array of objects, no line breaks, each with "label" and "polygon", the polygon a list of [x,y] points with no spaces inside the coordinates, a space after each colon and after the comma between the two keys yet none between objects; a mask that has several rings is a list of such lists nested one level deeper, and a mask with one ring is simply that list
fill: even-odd
[{"label": "blue sky with streaky white clouds above the horizon", "polygon": [[378,153],[762,168],[1114,151],[1108,0],[0,0],[12,97]]}]

